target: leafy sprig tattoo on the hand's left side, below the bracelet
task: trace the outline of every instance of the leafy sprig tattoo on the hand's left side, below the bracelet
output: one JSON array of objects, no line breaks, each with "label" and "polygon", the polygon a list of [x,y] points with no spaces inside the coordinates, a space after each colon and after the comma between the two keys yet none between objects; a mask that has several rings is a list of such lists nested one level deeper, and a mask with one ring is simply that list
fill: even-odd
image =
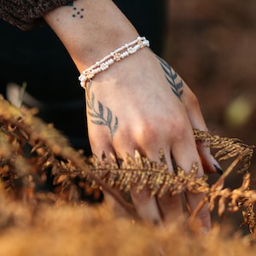
[{"label": "leafy sprig tattoo on the hand's left side, below the bracelet", "polygon": [[110,131],[110,135],[113,138],[115,131],[117,131],[119,125],[119,119],[115,116],[113,119],[112,111],[108,107],[104,107],[102,102],[95,101],[95,95],[90,92],[91,80],[87,84],[86,89],[86,106],[87,113],[91,117],[90,121],[96,125],[106,125]]}]

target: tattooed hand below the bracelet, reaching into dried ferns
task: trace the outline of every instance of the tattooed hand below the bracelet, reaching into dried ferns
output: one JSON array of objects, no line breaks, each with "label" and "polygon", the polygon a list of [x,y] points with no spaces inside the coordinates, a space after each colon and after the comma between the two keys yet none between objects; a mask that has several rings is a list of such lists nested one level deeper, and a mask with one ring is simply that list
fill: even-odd
[{"label": "tattooed hand below the bracelet, reaching into dried ferns", "polygon": [[[88,84],[86,106],[90,145],[99,158],[105,154],[134,155],[138,150],[150,160],[159,161],[160,148],[170,172],[177,166],[189,172],[199,164],[198,177],[216,172],[218,163],[203,144],[196,145],[193,128],[207,131],[195,95],[166,61],[149,49],[120,61],[99,73]],[[203,169],[203,166],[204,169]],[[214,166],[215,165],[215,166]],[[185,193],[193,212],[203,195]],[[175,221],[183,212],[179,195],[150,197],[149,189],[139,194],[131,189],[132,201],[144,220]],[[207,206],[199,212],[202,227],[211,227]]]}]

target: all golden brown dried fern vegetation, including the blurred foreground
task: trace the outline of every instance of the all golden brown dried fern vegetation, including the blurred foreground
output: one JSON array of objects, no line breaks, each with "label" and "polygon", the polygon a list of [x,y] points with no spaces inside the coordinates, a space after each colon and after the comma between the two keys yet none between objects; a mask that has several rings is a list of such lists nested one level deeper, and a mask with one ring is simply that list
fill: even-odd
[{"label": "all golden brown dried fern vegetation, including the blurred foreground", "polygon": [[[195,140],[212,148],[219,161],[233,160],[224,175],[210,185],[207,177],[196,177],[196,163],[189,173],[179,167],[176,174],[168,172],[161,152],[159,162],[151,162],[138,152],[125,160],[104,155],[102,160],[86,159],[35,113],[0,98],[1,255],[34,255],[38,251],[47,255],[252,254],[256,191],[249,166],[253,147],[238,139],[195,131]],[[241,186],[225,187],[225,179],[237,172],[241,173]],[[138,190],[147,184],[152,195],[159,196],[180,194],[185,189],[204,192],[205,200],[197,210],[206,201],[220,216],[241,210],[250,235],[225,231],[222,224],[216,224],[208,235],[195,234],[197,211],[189,221],[177,220],[166,230],[143,224],[137,221],[131,202],[113,192],[127,191],[135,183]],[[100,187],[112,193],[134,220],[117,217],[104,204],[84,201],[85,195],[98,198]]]}]

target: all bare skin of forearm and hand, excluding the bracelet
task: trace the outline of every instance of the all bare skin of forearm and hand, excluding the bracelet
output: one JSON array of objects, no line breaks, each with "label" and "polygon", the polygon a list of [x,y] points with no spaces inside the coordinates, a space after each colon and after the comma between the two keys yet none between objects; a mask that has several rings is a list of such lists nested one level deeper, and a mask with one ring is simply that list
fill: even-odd
[{"label": "all bare skin of forearm and hand, excluding the bracelet", "polygon": [[[110,0],[74,1],[51,11],[44,19],[61,38],[80,72],[138,37],[130,21]],[[204,171],[216,172],[214,165],[218,163],[209,148],[195,143],[193,128],[207,131],[196,96],[150,49],[139,49],[98,73],[88,84],[85,96],[90,145],[98,157],[102,151],[125,156],[137,149],[158,161],[162,148],[170,172],[174,172],[171,156],[186,172],[198,162],[199,177]],[[138,214],[152,223],[168,224],[183,212],[178,195],[152,198],[149,189],[137,194],[132,188],[131,197]],[[185,193],[185,198],[189,211],[193,211],[203,195]],[[211,228],[207,205],[198,218],[202,228]]]}]

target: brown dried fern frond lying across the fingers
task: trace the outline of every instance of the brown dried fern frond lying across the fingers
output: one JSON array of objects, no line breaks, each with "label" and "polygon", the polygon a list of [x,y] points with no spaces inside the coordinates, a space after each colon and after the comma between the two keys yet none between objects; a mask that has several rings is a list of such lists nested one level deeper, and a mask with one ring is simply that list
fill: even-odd
[{"label": "brown dried fern frond lying across the fingers", "polygon": [[113,155],[102,160],[94,156],[90,170],[114,189],[128,191],[136,185],[139,192],[147,185],[151,189],[152,196],[162,196],[166,193],[177,195],[184,190],[204,193],[208,189],[207,177],[196,176],[198,170],[196,163],[192,165],[189,173],[177,167],[175,174],[168,171],[165,162],[152,162],[138,151],[135,152],[134,157],[127,154],[126,159],[119,160],[119,163]]}]

